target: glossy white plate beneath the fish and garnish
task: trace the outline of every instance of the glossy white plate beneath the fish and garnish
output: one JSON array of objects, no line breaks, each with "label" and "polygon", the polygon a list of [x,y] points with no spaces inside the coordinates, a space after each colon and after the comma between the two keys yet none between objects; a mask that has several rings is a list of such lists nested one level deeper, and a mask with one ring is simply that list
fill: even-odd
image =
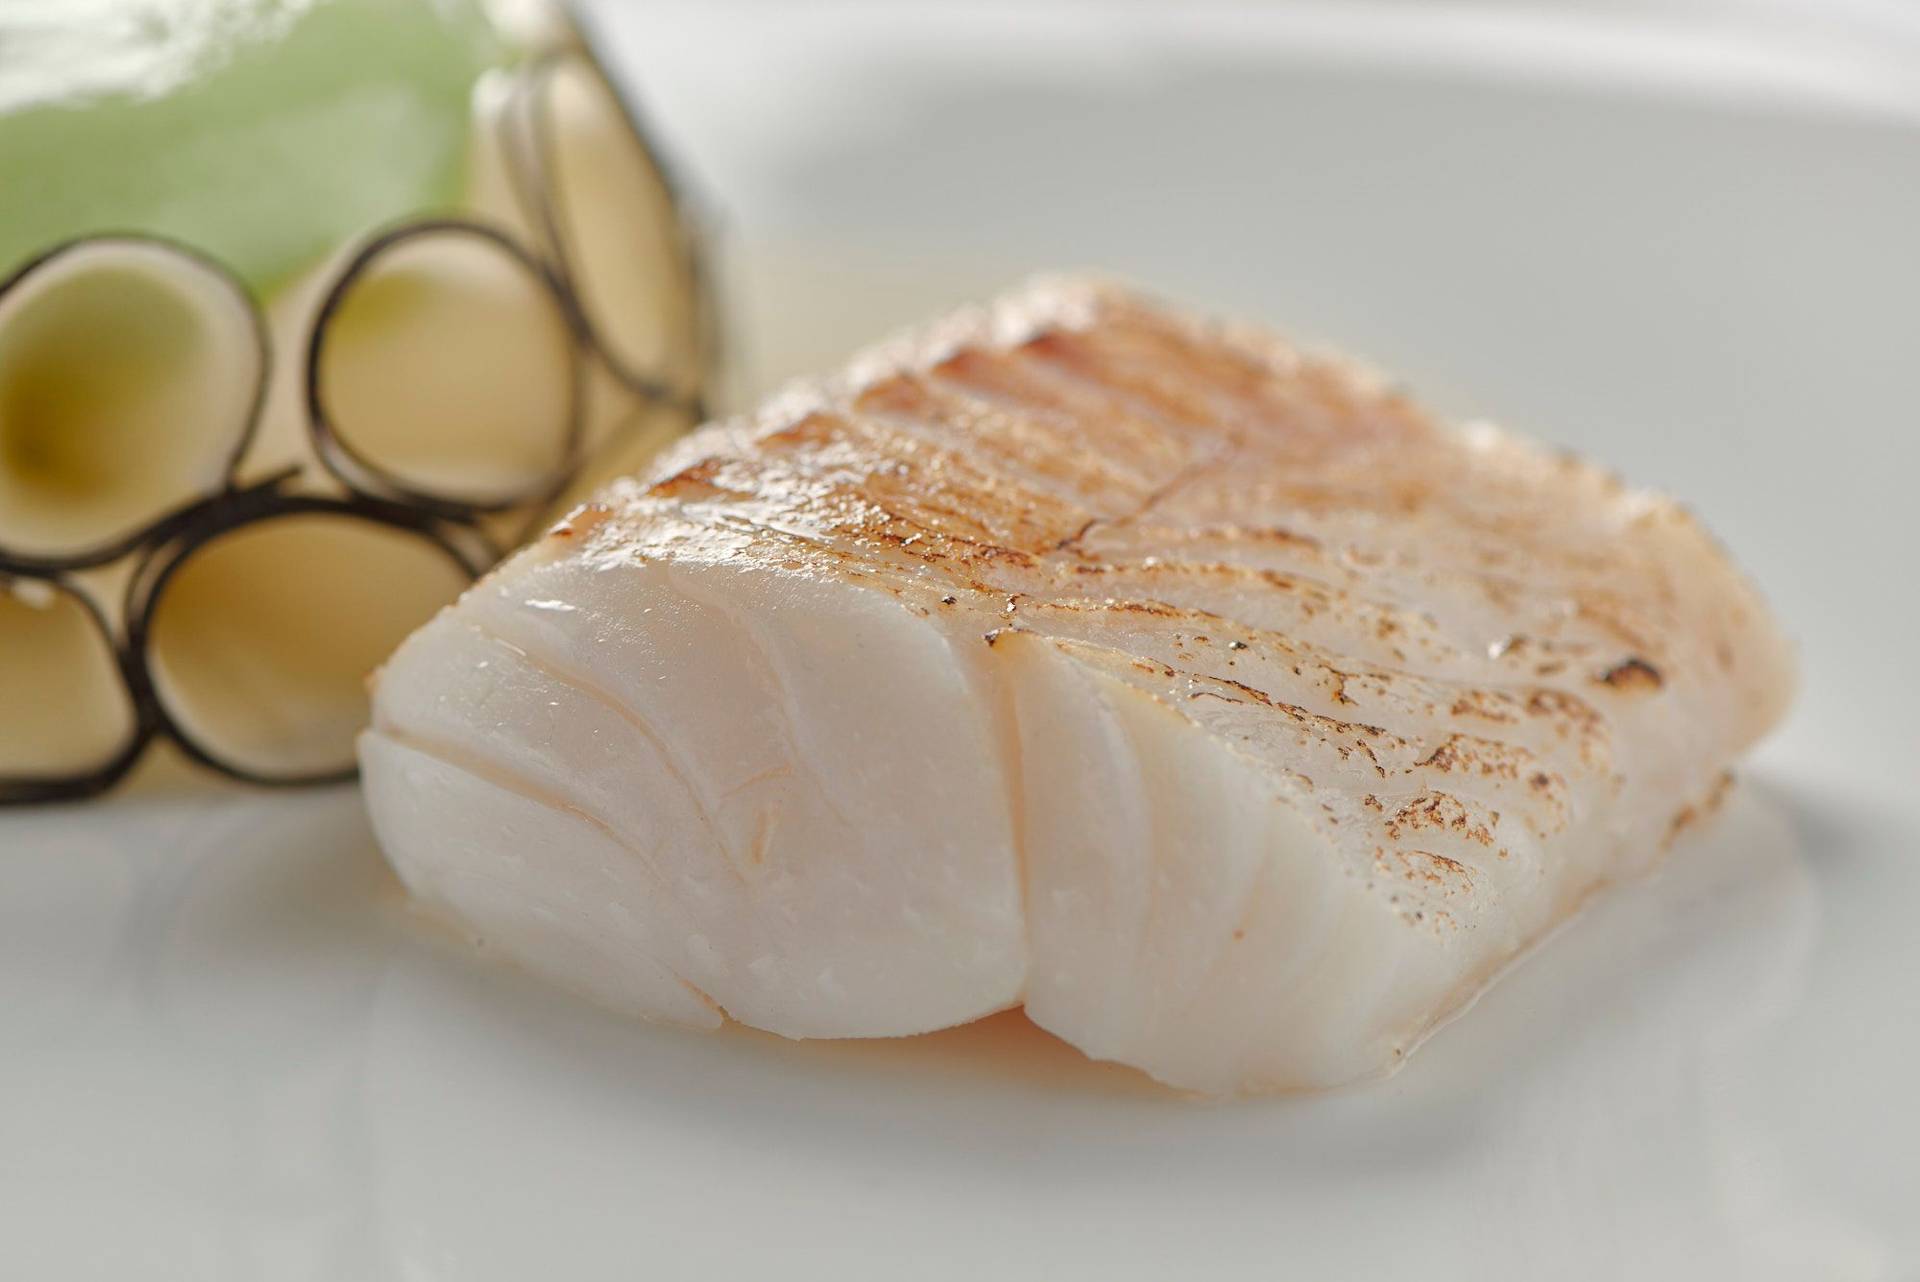
[{"label": "glossy white plate beneath the fish and garnish", "polygon": [[1233,1105],[1020,1017],[618,1021],[424,933],[351,789],[6,814],[0,1276],[1920,1276],[1903,13],[597,12],[732,213],[749,382],[1033,267],[1265,317],[1690,497],[1795,714],[1400,1077]]}]

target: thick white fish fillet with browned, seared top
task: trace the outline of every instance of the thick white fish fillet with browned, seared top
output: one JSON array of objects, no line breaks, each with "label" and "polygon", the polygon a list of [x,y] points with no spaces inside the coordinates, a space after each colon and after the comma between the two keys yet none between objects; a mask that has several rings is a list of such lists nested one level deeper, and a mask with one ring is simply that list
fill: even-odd
[{"label": "thick white fish fillet with browned, seared top", "polygon": [[1392,1069],[1772,725],[1667,499],[1373,376],[1037,284],[705,428],[415,633],[415,896],[653,1019],[1023,1004],[1173,1086]]}]

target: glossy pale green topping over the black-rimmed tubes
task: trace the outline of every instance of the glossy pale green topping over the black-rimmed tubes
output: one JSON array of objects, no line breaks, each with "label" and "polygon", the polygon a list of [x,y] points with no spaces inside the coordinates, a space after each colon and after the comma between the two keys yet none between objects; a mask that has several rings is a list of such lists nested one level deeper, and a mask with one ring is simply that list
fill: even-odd
[{"label": "glossy pale green topping over the black-rimmed tubes", "polygon": [[267,294],[369,226],[457,203],[482,0],[0,0],[0,276],[157,232]]}]

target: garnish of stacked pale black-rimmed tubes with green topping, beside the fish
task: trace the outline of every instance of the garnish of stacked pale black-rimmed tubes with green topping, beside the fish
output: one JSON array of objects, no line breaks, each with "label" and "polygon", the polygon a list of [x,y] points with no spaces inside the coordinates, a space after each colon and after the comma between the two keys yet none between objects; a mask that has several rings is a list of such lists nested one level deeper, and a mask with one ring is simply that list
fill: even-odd
[{"label": "garnish of stacked pale black-rimmed tubes with green topping, beside the fish", "polygon": [[[159,737],[257,783],[351,775],[367,672],[589,461],[703,415],[695,230],[563,13],[319,0],[175,36],[207,48],[159,92],[0,100],[10,163],[88,129],[198,131],[119,184],[50,167],[35,217],[63,202],[67,234],[0,282],[0,802],[104,791]],[[361,104],[394,102],[409,138],[449,142],[382,152],[386,107]],[[227,125],[238,155],[278,129],[284,173],[179,198]],[[315,132],[328,150],[301,155]],[[232,213],[307,165],[338,207],[271,234]],[[46,230],[21,219],[0,251]]]}]

